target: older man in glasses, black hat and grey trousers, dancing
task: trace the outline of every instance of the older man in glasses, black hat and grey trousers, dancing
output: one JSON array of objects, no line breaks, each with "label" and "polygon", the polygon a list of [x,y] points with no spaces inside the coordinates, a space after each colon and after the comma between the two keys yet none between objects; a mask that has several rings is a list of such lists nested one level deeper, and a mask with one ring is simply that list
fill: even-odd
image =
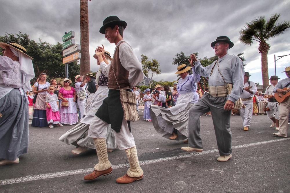
[{"label": "older man in glasses, black hat and grey trousers, dancing", "polygon": [[[231,110],[234,107],[234,102],[240,97],[244,84],[242,61],[238,56],[228,54],[228,49],[233,45],[228,37],[220,36],[211,43],[211,47],[219,58],[217,61],[203,67],[194,54],[191,54],[191,60],[189,60],[195,73],[209,77],[209,93],[204,94],[189,110],[189,147],[181,149],[187,152],[202,152],[200,116],[211,111],[220,152],[218,161],[228,161],[232,157]],[[227,91],[224,82],[233,84],[231,93]]]}]

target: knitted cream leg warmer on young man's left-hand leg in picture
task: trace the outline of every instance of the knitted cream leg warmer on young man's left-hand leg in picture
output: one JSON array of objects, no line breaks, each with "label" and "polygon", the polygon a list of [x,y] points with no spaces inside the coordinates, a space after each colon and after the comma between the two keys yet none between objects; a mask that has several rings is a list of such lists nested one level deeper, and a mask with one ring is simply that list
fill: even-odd
[{"label": "knitted cream leg warmer on young man's left-hand leg in picture", "polygon": [[112,166],[112,164],[108,160],[106,138],[93,138],[93,139],[99,159],[99,163],[95,165],[94,169],[97,171],[104,171],[106,169],[109,169]]}]

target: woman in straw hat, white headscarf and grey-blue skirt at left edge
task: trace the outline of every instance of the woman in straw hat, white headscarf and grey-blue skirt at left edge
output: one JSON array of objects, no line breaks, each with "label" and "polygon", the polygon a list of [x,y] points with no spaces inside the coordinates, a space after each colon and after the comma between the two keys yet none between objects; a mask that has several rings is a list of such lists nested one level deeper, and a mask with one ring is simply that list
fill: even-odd
[{"label": "woman in straw hat, white headscarf and grey-blue skirt at left edge", "polygon": [[28,149],[28,99],[35,77],[32,57],[17,43],[0,42],[0,166],[19,163]]}]

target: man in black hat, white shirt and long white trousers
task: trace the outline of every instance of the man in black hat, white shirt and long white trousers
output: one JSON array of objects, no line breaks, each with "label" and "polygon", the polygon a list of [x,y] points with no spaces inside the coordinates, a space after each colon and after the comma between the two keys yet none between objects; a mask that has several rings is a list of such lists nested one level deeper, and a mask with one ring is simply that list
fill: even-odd
[{"label": "man in black hat, white shirt and long white trousers", "polygon": [[257,86],[255,82],[249,81],[250,76],[251,75],[249,74],[249,72],[245,72],[243,86],[244,89],[242,90],[242,93],[240,95],[243,104],[246,106],[245,108],[240,109],[240,115],[243,120],[244,131],[249,130],[249,126],[251,125],[253,115],[253,96],[254,93],[257,92]]}]

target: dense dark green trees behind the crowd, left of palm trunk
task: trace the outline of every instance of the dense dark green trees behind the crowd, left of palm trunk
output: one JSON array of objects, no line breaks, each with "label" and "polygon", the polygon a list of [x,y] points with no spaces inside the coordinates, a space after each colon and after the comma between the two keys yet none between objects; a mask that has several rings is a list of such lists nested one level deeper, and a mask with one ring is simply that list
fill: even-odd
[{"label": "dense dark green trees behind the crowd, left of palm trunk", "polygon": [[[42,41],[41,39],[39,39],[39,42],[36,42],[30,40],[29,35],[23,34],[22,32],[19,32],[19,34],[5,33],[4,36],[0,36],[0,42],[18,43],[27,49],[29,56],[34,58],[32,63],[35,78],[31,80],[31,83],[36,82],[41,73],[47,74],[48,82],[55,78],[65,78],[65,64],[62,63],[62,45],[59,42],[55,45]],[[74,77],[79,74],[79,65],[77,65],[77,62],[69,63],[68,71],[69,78],[75,80]]]}]

